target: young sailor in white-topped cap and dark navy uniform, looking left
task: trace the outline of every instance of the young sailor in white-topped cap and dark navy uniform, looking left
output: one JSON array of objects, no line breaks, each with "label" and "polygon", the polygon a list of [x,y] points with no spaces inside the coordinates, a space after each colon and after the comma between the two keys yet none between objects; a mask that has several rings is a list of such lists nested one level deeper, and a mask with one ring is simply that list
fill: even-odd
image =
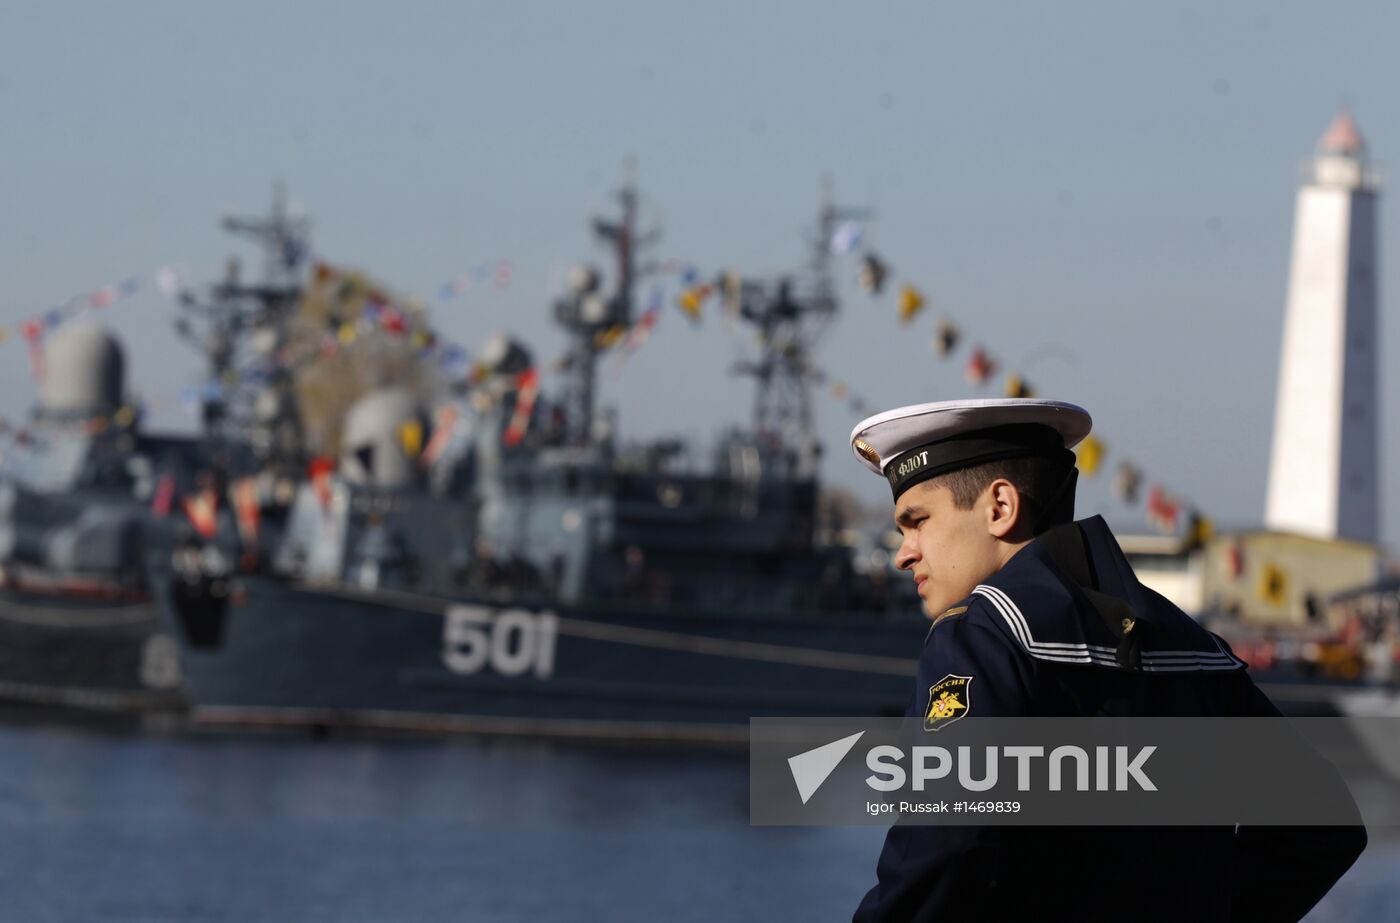
[{"label": "young sailor in white-topped cap and dark navy uniform, looking left", "polygon": [[[851,433],[883,476],[932,619],[910,716],[1278,716],[1218,637],[1144,587],[1100,517],[1074,522],[1089,415],[1033,399],[923,403]],[[1350,798],[1345,801],[1350,804]],[[1365,847],[1341,828],[896,824],[876,920],[1298,920]]]}]

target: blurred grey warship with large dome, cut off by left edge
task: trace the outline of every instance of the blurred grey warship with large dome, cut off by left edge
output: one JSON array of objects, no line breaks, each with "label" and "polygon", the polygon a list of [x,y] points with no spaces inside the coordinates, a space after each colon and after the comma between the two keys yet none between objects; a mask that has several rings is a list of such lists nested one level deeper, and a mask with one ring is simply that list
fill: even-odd
[{"label": "blurred grey warship with large dome, cut off by left edge", "polygon": [[179,651],[143,542],[157,472],[197,471],[204,444],[143,430],[120,343],[95,324],[50,332],[38,370],[0,479],[0,702],[181,710]]}]

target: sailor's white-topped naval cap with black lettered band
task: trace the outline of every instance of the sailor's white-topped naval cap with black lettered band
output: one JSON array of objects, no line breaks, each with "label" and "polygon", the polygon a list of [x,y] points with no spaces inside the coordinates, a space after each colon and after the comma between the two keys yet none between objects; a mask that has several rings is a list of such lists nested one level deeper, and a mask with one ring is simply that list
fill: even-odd
[{"label": "sailor's white-topped naval cap with black lettered band", "polygon": [[1063,401],[939,401],[861,420],[851,430],[851,450],[899,499],[916,483],[991,461],[1039,455],[1072,466],[1070,450],[1092,426],[1088,410]]}]

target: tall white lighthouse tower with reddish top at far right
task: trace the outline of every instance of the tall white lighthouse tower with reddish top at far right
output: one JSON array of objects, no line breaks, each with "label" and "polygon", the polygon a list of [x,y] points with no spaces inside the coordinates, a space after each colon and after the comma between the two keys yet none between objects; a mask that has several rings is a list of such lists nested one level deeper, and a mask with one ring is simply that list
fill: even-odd
[{"label": "tall white lighthouse tower with reddish top at far right", "polygon": [[1298,190],[1264,513],[1271,529],[1378,538],[1378,192],[1361,132],[1343,112]]}]

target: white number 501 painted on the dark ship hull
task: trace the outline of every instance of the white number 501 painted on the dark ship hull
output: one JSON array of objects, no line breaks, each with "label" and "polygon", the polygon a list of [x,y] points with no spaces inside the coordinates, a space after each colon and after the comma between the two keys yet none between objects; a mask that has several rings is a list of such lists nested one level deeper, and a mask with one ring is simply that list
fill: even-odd
[{"label": "white number 501 painted on the dark ship hull", "polygon": [[553,612],[455,605],[442,619],[442,662],[456,674],[490,667],[503,676],[533,672],[547,679],[554,674],[557,634],[559,616]]}]

